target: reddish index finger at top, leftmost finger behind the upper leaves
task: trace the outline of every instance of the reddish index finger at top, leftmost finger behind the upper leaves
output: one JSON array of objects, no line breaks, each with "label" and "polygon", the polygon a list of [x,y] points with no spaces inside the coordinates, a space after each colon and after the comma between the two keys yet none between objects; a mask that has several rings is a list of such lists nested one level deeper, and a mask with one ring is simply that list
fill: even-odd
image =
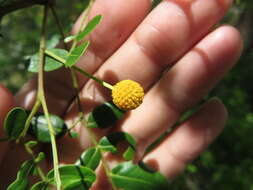
[{"label": "reddish index finger at top, leftmost finger behind the upper leaves", "polygon": [[[91,19],[101,14],[103,19],[89,36],[88,56],[83,56],[78,66],[90,73],[96,71],[144,19],[150,10],[150,6],[150,0],[138,1],[138,6],[136,6],[135,0],[130,0],[127,3],[124,0],[95,1],[89,17]],[[78,32],[82,19],[81,16],[72,33]],[[87,80],[87,77],[80,78],[81,81]]]}]

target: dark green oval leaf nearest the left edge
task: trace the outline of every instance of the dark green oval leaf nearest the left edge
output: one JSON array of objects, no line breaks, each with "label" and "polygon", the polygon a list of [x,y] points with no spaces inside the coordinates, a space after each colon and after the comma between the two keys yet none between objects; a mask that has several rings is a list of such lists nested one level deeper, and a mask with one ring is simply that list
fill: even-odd
[{"label": "dark green oval leaf nearest the left edge", "polygon": [[9,139],[17,139],[22,133],[27,119],[26,111],[23,108],[13,108],[4,120],[4,130]]}]

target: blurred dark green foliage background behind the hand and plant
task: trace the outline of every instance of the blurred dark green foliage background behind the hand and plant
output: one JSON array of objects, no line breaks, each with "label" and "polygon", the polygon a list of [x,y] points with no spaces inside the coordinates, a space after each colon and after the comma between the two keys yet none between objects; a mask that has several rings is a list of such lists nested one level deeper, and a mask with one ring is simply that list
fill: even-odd
[{"label": "blurred dark green foliage background behind the hand and plant", "polygon": [[[57,3],[65,33],[84,5],[84,1]],[[26,68],[29,56],[39,46],[42,17],[39,10],[35,6],[16,11],[5,16],[1,23],[0,82],[13,93],[31,75]],[[223,100],[230,117],[215,143],[171,182],[171,190],[253,190],[253,1],[235,1],[221,23],[236,26],[245,45],[236,67],[209,94]],[[48,44],[54,46],[60,36],[52,19],[47,29]]]}]

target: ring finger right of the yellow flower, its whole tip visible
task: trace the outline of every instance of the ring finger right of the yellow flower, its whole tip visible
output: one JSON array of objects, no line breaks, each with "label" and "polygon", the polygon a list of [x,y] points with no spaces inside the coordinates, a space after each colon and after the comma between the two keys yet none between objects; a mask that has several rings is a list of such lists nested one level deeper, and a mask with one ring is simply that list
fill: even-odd
[{"label": "ring finger right of the yellow flower, its whole tip visible", "polygon": [[241,49],[240,34],[233,27],[209,34],[146,94],[143,104],[123,123],[123,131],[131,133],[144,150],[214,87]]}]

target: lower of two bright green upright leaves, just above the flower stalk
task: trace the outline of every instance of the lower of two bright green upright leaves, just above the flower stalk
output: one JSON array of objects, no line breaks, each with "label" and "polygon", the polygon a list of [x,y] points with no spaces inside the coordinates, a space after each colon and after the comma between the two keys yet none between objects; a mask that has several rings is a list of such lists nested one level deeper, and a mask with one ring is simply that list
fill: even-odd
[{"label": "lower of two bright green upright leaves, just above the flower stalk", "polygon": [[70,52],[70,55],[68,56],[65,65],[67,67],[71,67],[74,64],[77,63],[77,61],[80,59],[80,57],[84,54],[86,49],[89,46],[89,42],[86,41],[82,43],[80,46],[77,46],[72,52]]}]

